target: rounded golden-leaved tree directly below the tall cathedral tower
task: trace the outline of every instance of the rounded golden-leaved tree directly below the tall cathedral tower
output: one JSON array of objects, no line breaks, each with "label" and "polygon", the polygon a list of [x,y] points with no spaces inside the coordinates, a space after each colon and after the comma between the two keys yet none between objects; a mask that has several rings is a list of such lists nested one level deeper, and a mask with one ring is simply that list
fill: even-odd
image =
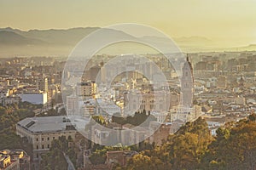
[{"label": "rounded golden-leaved tree directly below the tall cathedral tower", "polygon": [[212,142],[207,122],[199,117],[187,122],[176,134],[168,139],[170,159],[174,169],[195,169],[200,167],[207,147]]}]

